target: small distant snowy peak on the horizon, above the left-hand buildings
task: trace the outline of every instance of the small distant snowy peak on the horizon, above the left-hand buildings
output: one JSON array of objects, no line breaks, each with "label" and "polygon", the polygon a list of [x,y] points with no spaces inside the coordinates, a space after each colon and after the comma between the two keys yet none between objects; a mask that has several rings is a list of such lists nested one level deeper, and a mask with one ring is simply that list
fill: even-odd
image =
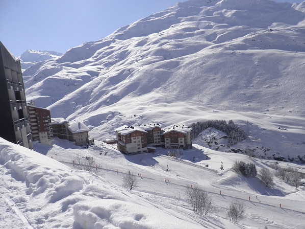
[{"label": "small distant snowy peak on the horizon, above the left-hand buildings", "polygon": [[62,56],[62,53],[54,52],[54,51],[37,51],[37,50],[27,50],[22,53],[20,58],[21,68],[22,70],[26,70],[28,67],[33,66],[39,62],[49,60],[52,58],[58,58]]}]

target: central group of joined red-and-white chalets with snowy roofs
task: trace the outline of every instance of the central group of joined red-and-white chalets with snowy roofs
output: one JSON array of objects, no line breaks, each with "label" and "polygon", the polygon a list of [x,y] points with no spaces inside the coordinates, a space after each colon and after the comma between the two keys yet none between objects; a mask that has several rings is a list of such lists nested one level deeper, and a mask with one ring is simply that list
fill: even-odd
[{"label": "central group of joined red-and-white chalets with snowy roofs", "polygon": [[154,152],[156,146],[188,149],[192,148],[191,130],[187,126],[162,129],[160,124],[121,126],[115,130],[117,148],[125,154]]}]

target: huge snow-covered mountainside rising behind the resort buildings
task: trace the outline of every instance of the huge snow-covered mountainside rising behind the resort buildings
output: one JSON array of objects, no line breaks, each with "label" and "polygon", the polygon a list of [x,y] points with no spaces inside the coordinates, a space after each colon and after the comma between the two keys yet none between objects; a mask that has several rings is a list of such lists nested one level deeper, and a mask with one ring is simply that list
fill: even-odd
[{"label": "huge snow-covered mountainside rising behind the resort buildings", "polygon": [[83,121],[95,139],[124,124],[232,119],[258,156],[297,158],[305,136],[304,26],[304,3],[177,3],[28,68],[27,99],[53,117]]}]

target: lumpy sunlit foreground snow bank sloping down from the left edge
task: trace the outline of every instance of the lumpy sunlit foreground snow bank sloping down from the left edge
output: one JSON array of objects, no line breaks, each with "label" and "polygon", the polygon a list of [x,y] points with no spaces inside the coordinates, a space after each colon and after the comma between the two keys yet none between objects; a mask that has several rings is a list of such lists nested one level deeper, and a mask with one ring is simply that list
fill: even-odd
[{"label": "lumpy sunlit foreground snow bank sloping down from the left edge", "polygon": [[34,228],[199,228],[96,174],[3,139],[0,164],[2,195]]}]

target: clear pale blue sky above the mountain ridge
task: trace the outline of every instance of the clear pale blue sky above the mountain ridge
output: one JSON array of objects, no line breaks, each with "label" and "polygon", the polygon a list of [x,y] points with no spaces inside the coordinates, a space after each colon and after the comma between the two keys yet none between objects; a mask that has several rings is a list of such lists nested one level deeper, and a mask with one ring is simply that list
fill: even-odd
[{"label": "clear pale blue sky above the mountain ridge", "polygon": [[185,1],[1,0],[0,41],[16,57],[28,49],[65,53],[176,2]]}]

